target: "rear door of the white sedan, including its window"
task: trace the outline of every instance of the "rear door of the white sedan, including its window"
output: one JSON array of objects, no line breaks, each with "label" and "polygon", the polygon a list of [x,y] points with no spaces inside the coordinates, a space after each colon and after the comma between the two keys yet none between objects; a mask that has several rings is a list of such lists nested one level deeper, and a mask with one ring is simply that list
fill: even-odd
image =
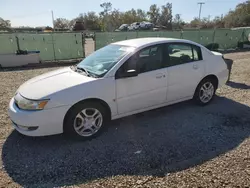
[{"label": "rear door of the white sedan, including its window", "polygon": [[200,47],[189,43],[169,43],[165,50],[168,102],[192,97],[205,73]]}]

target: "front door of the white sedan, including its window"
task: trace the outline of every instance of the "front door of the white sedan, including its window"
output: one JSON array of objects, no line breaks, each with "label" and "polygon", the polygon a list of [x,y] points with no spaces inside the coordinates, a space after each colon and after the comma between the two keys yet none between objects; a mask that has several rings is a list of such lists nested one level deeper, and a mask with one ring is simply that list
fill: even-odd
[{"label": "front door of the white sedan, including its window", "polygon": [[[116,74],[119,114],[130,113],[166,101],[167,69],[162,62],[162,45],[154,45],[137,52],[120,67]],[[122,78],[117,76],[131,69],[136,69],[138,75]]]}]

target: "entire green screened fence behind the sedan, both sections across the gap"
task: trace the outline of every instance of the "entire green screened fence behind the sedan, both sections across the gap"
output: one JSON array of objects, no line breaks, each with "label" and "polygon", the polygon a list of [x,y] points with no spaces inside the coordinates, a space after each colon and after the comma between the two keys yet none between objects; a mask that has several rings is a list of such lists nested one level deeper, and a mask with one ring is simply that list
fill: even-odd
[{"label": "entire green screened fence behind the sedan, both sections across the gap", "polygon": [[[103,32],[95,34],[95,49],[112,42],[142,38],[168,37],[188,39],[213,49],[229,50],[248,41],[250,29],[210,29],[183,31]],[[241,45],[240,45],[241,44]],[[85,57],[85,38],[81,33],[0,34],[0,54],[17,50],[40,51],[42,60],[67,60]]]}]

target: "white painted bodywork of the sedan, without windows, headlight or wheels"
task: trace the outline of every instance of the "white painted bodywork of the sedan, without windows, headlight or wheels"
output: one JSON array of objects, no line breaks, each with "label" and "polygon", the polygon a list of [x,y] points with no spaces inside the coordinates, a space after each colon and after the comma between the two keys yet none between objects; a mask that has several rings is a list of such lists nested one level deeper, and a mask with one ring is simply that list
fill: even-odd
[{"label": "white painted bodywork of the sedan, without windows, headlight or wheels", "polygon": [[[200,46],[204,60],[115,80],[116,71],[133,53],[150,45],[167,42],[186,42]],[[12,99],[9,105],[10,118],[20,125],[39,126],[35,131],[16,129],[29,136],[59,134],[63,131],[63,119],[67,111],[79,101],[93,98],[103,100],[111,109],[111,118],[117,119],[189,100],[198,83],[207,75],[216,75],[219,86],[225,83],[228,77],[222,56],[194,42],[147,38],[116,44],[135,46],[136,50],[121,59],[103,78],[91,78],[70,68],[63,68],[35,77],[20,86],[17,92],[26,98],[50,100],[44,110],[24,111],[19,110]],[[198,68],[194,68],[194,65]],[[165,77],[157,79],[159,74]]]}]

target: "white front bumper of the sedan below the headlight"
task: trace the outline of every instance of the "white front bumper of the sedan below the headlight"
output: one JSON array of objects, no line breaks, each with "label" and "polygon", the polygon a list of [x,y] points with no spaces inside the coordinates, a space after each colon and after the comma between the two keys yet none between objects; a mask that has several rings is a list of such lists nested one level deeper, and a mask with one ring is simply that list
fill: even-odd
[{"label": "white front bumper of the sedan below the headlight", "polygon": [[14,128],[27,136],[47,136],[63,133],[63,119],[70,106],[26,111],[19,109],[14,98],[9,103],[8,114]]}]

